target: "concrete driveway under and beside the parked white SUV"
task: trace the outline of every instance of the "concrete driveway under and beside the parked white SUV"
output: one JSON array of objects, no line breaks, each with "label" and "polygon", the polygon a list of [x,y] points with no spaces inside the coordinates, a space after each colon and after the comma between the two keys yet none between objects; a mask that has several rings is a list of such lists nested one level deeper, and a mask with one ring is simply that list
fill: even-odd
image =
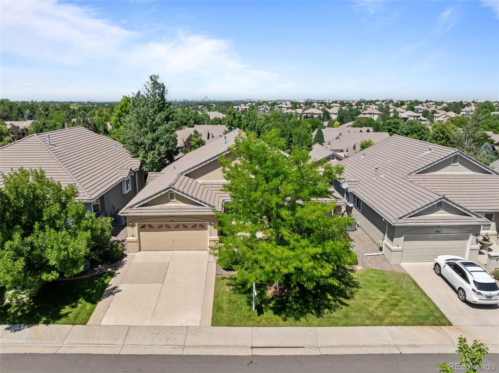
[{"label": "concrete driveway under and beside the parked white SUV", "polygon": [[402,266],[453,325],[499,325],[499,305],[461,302],[454,287],[433,272],[432,262],[402,263]]}]

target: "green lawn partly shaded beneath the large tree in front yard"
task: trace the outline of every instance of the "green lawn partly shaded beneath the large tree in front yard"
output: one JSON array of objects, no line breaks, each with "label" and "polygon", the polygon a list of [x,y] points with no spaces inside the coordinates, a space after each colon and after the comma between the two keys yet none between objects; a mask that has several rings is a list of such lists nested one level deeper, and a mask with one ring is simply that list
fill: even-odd
[{"label": "green lawn partly shaded beneath the large tree in front yard", "polygon": [[338,284],[294,289],[272,298],[257,288],[242,291],[232,277],[217,276],[213,326],[452,325],[409,274],[363,268],[340,270]]}]

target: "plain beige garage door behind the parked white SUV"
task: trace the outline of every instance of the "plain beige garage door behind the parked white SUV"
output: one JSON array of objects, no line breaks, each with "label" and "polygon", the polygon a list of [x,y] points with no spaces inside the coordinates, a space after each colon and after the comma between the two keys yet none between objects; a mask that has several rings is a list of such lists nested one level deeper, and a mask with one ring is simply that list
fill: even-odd
[{"label": "plain beige garage door behind the parked white SUV", "polygon": [[433,261],[438,255],[465,257],[469,235],[405,235],[402,262]]}]

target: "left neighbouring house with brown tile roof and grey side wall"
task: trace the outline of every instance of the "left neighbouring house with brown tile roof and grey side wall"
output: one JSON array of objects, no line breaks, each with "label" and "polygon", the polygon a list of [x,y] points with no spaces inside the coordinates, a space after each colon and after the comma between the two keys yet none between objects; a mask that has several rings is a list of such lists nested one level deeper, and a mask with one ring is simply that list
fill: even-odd
[{"label": "left neighbouring house with brown tile roof and grey side wall", "polygon": [[78,198],[98,216],[119,212],[144,187],[140,159],[82,126],[35,133],[2,146],[0,171],[20,167],[41,167],[63,186],[76,184]]}]

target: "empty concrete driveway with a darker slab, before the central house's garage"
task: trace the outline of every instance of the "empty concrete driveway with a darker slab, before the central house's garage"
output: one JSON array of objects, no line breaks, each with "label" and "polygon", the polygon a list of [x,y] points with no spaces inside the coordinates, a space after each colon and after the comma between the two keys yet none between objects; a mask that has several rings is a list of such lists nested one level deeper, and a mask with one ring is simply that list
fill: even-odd
[{"label": "empty concrete driveway with a darker slab, before the central house's garage", "polygon": [[129,253],[88,324],[211,325],[215,262],[207,251]]}]

